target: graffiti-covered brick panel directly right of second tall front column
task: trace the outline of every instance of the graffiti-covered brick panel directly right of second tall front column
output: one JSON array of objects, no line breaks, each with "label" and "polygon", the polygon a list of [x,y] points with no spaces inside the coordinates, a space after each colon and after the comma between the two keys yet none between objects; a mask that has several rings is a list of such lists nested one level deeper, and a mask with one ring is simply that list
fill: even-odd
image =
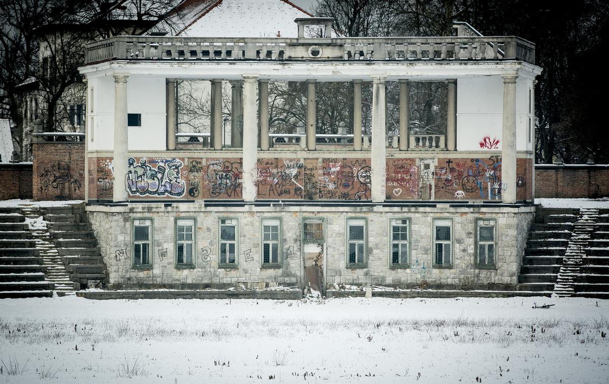
[{"label": "graffiti-covered brick panel directly right of second tall front column", "polygon": [[255,177],[258,197],[302,199],[303,168],[297,159],[258,159]]}]

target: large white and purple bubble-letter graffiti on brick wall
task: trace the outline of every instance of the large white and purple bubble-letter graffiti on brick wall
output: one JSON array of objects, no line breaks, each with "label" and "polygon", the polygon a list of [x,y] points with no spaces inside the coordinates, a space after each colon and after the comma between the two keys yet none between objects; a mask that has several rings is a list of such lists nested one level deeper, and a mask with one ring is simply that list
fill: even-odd
[{"label": "large white and purple bubble-letter graffiti on brick wall", "polygon": [[136,196],[184,195],[185,182],[182,179],[184,163],[178,159],[127,160],[126,187],[128,193]]}]

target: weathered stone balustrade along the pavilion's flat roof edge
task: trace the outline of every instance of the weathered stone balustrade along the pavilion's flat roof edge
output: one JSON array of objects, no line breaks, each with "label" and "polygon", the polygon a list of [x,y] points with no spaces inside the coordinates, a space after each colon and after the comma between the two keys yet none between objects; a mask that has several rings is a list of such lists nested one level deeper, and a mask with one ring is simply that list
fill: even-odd
[{"label": "weathered stone balustrade along the pavilion's flat roof edge", "polygon": [[504,60],[535,64],[516,36],[198,38],[114,36],[88,43],[85,64],[108,60]]}]

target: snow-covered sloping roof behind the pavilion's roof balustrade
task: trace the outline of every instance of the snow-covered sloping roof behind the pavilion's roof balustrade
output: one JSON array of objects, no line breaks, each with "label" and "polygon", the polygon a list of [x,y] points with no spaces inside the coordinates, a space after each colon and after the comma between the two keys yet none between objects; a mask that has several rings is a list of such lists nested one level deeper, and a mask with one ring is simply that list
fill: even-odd
[{"label": "snow-covered sloping roof behind the pavilion's roof balustrade", "polygon": [[294,19],[311,16],[287,0],[187,0],[182,12],[176,35],[200,37],[296,37]]}]

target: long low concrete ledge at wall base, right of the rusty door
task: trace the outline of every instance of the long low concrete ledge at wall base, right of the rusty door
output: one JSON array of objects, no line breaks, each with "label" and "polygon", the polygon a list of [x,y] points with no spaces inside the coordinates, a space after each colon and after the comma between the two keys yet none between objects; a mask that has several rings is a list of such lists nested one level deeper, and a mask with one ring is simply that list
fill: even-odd
[{"label": "long low concrete ledge at wall base, right of the rusty door", "polygon": [[[372,297],[385,297],[396,299],[410,298],[453,298],[453,297],[529,297],[551,296],[550,291],[515,291],[515,290],[373,290]],[[328,298],[365,297],[361,290],[331,290],[326,291]]]}]

